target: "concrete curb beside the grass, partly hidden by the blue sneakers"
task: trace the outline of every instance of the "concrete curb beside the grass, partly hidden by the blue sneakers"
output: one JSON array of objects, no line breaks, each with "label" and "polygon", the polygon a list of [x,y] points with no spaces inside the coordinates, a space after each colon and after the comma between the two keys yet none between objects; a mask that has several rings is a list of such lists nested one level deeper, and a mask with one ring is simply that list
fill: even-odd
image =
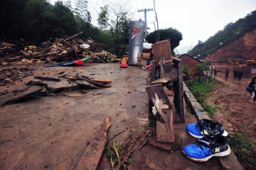
[{"label": "concrete curb beside the grass, partly hidden by the blue sneakers", "polygon": [[[202,106],[196,101],[193,94],[189,91],[187,85],[183,82],[183,89],[184,89],[184,98],[185,102],[189,107],[189,110],[196,116],[197,120],[201,120],[203,118],[210,119],[209,114],[203,110]],[[225,170],[243,170],[242,165],[237,160],[236,155],[234,154],[233,150],[227,157],[218,157],[222,168]]]}]

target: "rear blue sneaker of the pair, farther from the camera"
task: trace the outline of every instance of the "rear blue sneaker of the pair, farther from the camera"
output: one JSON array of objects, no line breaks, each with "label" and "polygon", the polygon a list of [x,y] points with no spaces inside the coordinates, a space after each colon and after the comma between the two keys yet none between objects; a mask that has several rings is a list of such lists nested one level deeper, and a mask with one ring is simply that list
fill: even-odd
[{"label": "rear blue sneaker of the pair, farther from the camera", "polygon": [[228,136],[220,122],[209,119],[202,119],[197,124],[188,124],[187,131],[196,138],[202,138],[204,135],[215,137],[217,135]]}]

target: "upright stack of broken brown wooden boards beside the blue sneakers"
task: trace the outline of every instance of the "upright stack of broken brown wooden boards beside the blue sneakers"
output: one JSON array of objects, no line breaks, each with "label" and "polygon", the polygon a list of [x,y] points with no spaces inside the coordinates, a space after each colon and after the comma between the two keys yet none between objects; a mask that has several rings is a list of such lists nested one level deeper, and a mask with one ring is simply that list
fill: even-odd
[{"label": "upright stack of broken brown wooden boards beside the blue sneakers", "polygon": [[175,141],[174,122],[178,122],[177,115],[184,122],[182,61],[173,58],[169,39],[156,42],[152,50],[155,61],[151,65],[150,86],[146,88],[150,98],[148,118],[156,119],[156,140],[155,144],[151,144],[170,150]]}]

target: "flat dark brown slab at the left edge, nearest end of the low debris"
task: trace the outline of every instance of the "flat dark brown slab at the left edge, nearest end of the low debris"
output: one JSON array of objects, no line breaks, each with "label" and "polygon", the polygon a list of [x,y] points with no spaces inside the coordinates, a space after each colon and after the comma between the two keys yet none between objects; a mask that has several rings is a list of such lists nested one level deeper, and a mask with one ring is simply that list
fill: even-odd
[{"label": "flat dark brown slab at the left edge, nearest end of the low debris", "polygon": [[43,88],[40,86],[18,86],[18,88],[12,92],[0,96],[0,105],[12,105],[19,101],[34,98],[41,90],[43,90]]}]

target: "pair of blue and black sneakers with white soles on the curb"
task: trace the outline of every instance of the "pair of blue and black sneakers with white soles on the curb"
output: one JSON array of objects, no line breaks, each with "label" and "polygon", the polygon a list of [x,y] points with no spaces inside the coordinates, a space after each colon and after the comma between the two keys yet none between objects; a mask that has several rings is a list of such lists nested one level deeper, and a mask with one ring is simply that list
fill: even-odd
[{"label": "pair of blue and black sneakers with white soles on the curb", "polygon": [[217,121],[202,119],[197,124],[188,124],[187,131],[198,138],[195,144],[183,148],[183,154],[196,162],[208,161],[211,157],[224,157],[230,154],[228,133]]}]

